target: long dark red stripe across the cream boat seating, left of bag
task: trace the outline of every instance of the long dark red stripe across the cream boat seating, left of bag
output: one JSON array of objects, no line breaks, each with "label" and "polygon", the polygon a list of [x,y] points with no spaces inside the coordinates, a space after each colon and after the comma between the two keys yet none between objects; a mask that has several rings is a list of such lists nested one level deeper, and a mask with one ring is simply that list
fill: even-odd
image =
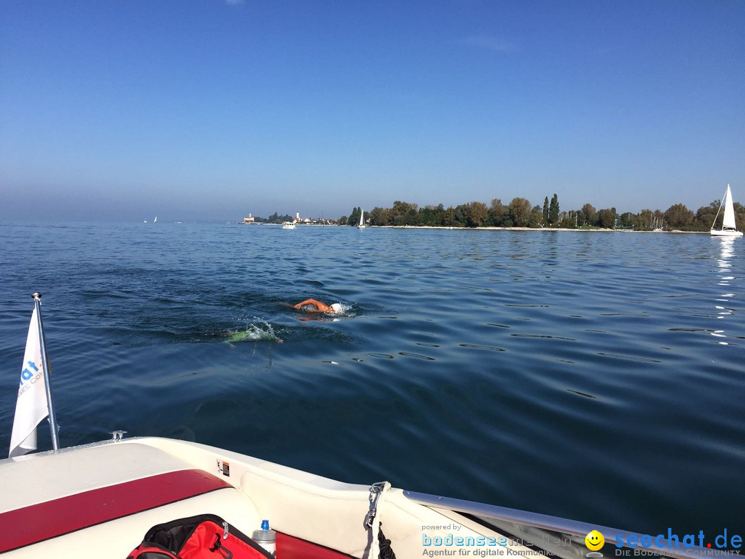
[{"label": "long dark red stripe across the cream boat seating, left of bag", "polygon": [[225,487],[202,470],[180,470],[17,508],[0,513],[0,553]]}]

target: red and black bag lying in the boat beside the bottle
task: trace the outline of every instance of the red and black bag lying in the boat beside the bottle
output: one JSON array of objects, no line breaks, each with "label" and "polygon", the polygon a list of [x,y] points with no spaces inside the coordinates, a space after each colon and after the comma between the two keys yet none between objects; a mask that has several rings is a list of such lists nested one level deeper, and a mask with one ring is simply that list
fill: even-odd
[{"label": "red and black bag lying in the boat beside the bottle", "polygon": [[153,526],[127,559],[266,559],[263,547],[215,514]]}]

